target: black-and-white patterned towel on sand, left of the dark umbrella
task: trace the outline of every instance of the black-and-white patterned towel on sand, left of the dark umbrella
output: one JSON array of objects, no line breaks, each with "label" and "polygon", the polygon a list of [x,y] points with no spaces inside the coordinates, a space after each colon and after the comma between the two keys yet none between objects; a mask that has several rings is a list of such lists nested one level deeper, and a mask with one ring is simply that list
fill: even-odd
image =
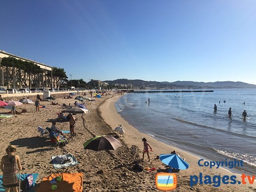
[{"label": "black-and-white patterned towel on sand, left of the dark umbrella", "polygon": [[77,163],[76,157],[72,154],[65,154],[65,155],[57,155],[52,156],[52,161],[54,169],[61,169],[63,167],[75,166]]}]

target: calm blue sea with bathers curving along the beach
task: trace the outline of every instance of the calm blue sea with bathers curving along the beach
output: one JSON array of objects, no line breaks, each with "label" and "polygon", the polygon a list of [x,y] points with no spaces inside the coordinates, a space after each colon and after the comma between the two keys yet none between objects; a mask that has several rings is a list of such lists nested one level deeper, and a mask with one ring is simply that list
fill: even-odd
[{"label": "calm blue sea with bathers curving along the beach", "polygon": [[[123,119],[148,137],[205,160],[243,160],[243,166],[230,171],[256,175],[256,89],[128,93],[115,106]],[[241,118],[244,110],[247,119]]]}]

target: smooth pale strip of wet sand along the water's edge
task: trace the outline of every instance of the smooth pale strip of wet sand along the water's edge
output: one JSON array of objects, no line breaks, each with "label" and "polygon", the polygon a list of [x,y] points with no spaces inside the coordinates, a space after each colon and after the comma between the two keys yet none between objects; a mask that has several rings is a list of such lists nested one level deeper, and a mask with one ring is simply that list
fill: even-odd
[{"label": "smooth pale strip of wet sand along the water's edge", "polygon": [[[199,175],[199,172],[204,172],[204,175],[236,175],[238,179],[241,180],[241,174],[232,172],[229,169],[225,169],[223,167],[219,167],[218,169],[215,169],[214,167],[212,169],[209,169],[209,167],[200,167],[198,166],[198,160],[202,159],[201,157],[197,156],[197,154],[192,154],[189,151],[176,148],[176,146],[168,145],[166,143],[163,143],[159,140],[157,140],[154,137],[151,137],[148,134],[145,134],[143,132],[138,131],[136,128],[134,128],[132,125],[130,125],[128,122],[125,121],[121,117],[121,115],[117,112],[115,107],[115,102],[120,98],[121,96],[113,96],[109,99],[106,99],[104,102],[102,102],[101,105],[99,105],[99,111],[100,116],[104,119],[104,121],[114,130],[118,124],[122,123],[125,131],[125,137],[122,137],[125,143],[128,144],[128,146],[134,145],[134,143],[139,144],[139,148],[141,151],[143,151],[143,142],[141,141],[143,137],[145,137],[148,142],[150,143],[151,147],[153,148],[153,152],[150,152],[150,158],[154,159],[159,154],[169,154],[171,151],[176,150],[177,154],[180,154],[180,157],[186,157],[186,161],[189,163],[189,169],[187,170],[181,170],[180,173],[187,173],[186,175]],[[157,150],[156,150],[157,149]],[[157,151],[157,153],[155,152]],[[142,154],[140,154],[142,156]],[[147,158],[146,158],[147,159]],[[209,159],[204,159],[209,160]],[[159,160],[160,164],[163,164]],[[234,168],[235,169],[235,168]],[[240,170],[236,169],[238,172]],[[234,170],[235,171],[235,170]],[[182,174],[185,175],[185,174]],[[189,177],[189,176],[188,176]],[[239,178],[240,177],[240,178]],[[189,178],[188,178],[189,179]],[[197,185],[198,186],[198,185]],[[218,188],[222,188],[223,186],[226,186],[222,184]],[[230,186],[230,185],[228,185]],[[236,185],[231,185],[236,186]],[[243,185],[243,186],[249,186],[249,187],[256,187],[256,184],[250,184],[250,185]],[[238,189],[236,189],[238,190]],[[240,191],[241,189],[239,189]]]}]

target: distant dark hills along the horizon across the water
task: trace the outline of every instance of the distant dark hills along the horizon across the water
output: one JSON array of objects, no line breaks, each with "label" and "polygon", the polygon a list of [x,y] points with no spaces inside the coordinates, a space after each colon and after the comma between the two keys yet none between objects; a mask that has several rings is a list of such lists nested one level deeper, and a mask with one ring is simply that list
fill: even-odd
[{"label": "distant dark hills along the horizon across the water", "polygon": [[216,81],[216,82],[195,82],[195,81],[175,81],[175,82],[158,82],[158,81],[143,81],[140,79],[116,79],[113,81],[105,81],[109,84],[129,84],[133,88],[144,89],[213,89],[213,88],[256,88],[255,84],[248,84],[244,82],[234,81]]}]

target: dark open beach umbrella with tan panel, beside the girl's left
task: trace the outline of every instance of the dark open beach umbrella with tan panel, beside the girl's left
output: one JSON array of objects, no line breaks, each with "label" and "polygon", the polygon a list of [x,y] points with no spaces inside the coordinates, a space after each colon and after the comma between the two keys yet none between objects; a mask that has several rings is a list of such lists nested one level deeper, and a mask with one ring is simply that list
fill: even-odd
[{"label": "dark open beach umbrella with tan panel, beside the girl's left", "polygon": [[122,147],[122,143],[114,137],[111,136],[96,136],[87,140],[84,144],[84,149],[90,149],[93,151],[102,150],[115,150],[118,147]]}]

